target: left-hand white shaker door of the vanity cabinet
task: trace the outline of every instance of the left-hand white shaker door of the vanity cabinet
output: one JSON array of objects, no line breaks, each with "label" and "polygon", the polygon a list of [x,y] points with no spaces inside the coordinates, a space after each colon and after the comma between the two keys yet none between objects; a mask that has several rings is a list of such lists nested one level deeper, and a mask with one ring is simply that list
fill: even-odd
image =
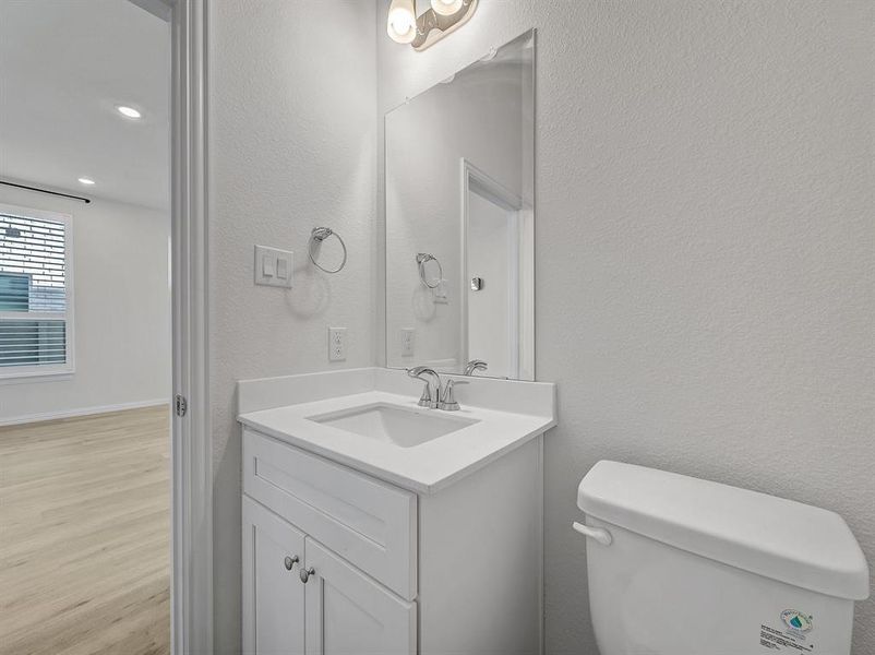
[{"label": "left-hand white shaker door of the vanity cabinet", "polygon": [[[303,655],[304,536],[243,497],[243,652]],[[289,558],[289,559],[287,559]]]}]

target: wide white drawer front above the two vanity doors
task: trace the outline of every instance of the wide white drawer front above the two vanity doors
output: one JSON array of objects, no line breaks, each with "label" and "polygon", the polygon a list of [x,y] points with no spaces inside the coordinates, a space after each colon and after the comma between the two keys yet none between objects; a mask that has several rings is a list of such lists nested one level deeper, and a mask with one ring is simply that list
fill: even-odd
[{"label": "wide white drawer front above the two vanity doors", "polygon": [[412,600],[417,497],[243,429],[243,492]]}]

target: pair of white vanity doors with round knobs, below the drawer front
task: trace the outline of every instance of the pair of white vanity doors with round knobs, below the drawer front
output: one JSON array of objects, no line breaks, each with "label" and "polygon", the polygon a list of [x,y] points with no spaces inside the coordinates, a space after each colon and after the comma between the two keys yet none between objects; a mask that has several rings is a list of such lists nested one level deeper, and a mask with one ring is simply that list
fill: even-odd
[{"label": "pair of white vanity doors with round knobs, below the drawer front", "polygon": [[416,653],[413,603],[247,497],[243,608],[248,654]]}]

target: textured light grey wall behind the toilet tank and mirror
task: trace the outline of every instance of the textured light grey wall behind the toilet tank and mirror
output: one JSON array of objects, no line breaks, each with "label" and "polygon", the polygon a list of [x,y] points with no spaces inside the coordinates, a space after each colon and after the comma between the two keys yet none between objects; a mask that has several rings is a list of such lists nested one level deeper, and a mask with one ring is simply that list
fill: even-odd
[{"label": "textured light grey wall behind the toilet tank and mirror", "polygon": [[836,510],[875,563],[873,8],[482,0],[425,52],[377,38],[382,114],[539,29],[551,655],[596,652],[570,523],[600,458]]}]

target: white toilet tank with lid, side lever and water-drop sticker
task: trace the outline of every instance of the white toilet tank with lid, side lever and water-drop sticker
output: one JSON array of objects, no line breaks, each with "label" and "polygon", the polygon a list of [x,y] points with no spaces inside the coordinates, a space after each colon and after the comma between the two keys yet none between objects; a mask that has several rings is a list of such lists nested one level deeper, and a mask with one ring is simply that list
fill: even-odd
[{"label": "white toilet tank with lid, side lever and water-drop sticker", "polygon": [[601,655],[849,655],[868,567],[838,514],[599,462],[580,481]]}]

